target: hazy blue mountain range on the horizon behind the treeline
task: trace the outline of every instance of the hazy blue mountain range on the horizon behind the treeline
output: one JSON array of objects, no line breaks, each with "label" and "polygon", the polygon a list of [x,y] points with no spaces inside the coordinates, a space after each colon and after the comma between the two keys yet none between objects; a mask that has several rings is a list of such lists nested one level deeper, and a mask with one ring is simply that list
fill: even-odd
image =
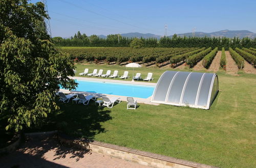
[{"label": "hazy blue mountain range on the horizon behind the treeline", "polygon": [[[150,33],[125,33],[125,34],[121,34],[122,37],[129,37],[129,38],[157,38],[160,39],[163,36],[159,36],[159,35],[154,35],[154,34],[150,34]],[[177,34],[177,36],[180,37],[192,37],[193,33],[183,33],[183,34]],[[250,32],[250,31],[246,31],[246,30],[242,30],[242,31],[230,31],[230,30],[223,30],[223,31],[218,31],[218,32],[212,32],[212,33],[204,33],[204,32],[195,32],[195,36],[196,37],[227,37],[227,38],[233,38],[233,37],[239,37],[239,38],[244,38],[244,37],[249,37],[249,38],[256,38],[256,33]],[[99,35],[100,38],[106,38],[106,36],[104,35]],[[172,36],[168,36],[168,37],[172,37]]]}]

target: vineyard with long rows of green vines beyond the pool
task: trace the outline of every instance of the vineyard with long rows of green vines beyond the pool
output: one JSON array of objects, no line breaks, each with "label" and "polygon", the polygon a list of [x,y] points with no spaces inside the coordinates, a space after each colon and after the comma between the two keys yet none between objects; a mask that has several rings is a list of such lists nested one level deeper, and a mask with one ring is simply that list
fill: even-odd
[{"label": "vineyard with long rows of green vines beyond the pool", "polygon": [[[211,63],[215,62],[218,65],[218,69],[224,70],[226,69],[226,64],[231,64],[230,61],[226,61],[224,48],[218,56],[221,58],[216,58],[216,55],[218,55],[217,47],[139,49],[129,47],[60,47],[60,49],[69,53],[72,60],[76,62],[86,61],[95,64],[125,65],[135,62],[144,66],[156,65],[157,67],[163,67],[169,65],[169,68],[179,68],[179,66],[182,67],[181,65],[187,68],[193,68],[200,64],[201,69],[208,69]],[[255,69],[255,48],[229,48],[229,53],[238,69],[249,68],[250,71]]]}]

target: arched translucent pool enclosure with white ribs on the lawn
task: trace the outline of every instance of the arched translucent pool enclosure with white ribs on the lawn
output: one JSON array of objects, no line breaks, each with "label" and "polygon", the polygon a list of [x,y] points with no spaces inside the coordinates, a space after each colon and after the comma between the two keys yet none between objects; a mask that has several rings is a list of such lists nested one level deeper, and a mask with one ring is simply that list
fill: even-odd
[{"label": "arched translucent pool enclosure with white ribs on the lawn", "polygon": [[218,92],[219,81],[215,73],[165,71],[151,101],[209,109]]}]

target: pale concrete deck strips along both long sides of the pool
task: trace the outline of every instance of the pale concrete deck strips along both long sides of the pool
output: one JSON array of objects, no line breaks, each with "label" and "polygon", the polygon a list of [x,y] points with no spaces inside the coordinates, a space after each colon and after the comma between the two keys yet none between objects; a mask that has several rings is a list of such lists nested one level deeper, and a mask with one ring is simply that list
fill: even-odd
[{"label": "pale concrete deck strips along both long sides of the pool", "polygon": [[[76,76],[69,76],[71,79],[79,79],[79,80],[91,80],[91,81],[104,81],[104,82],[115,82],[115,83],[124,83],[124,84],[132,84],[132,85],[144,85],[144,86],[156,86],[157,83],[146,83],[146,82],[139,82],[139,81],[127,81],[127,80],[113,80],[113,79],[102,79],[102,78],[88,78],[88,77],[76,77]],[[101,93],[91,93],[91,92],[81,92],[81,91],[75,91],[75,90],[65,90],[60,89],[60,92],[63,93],[82,93],[82,94],[88,94],[88,95],[95,95],[97,98],[101,98],[102,96],[108,96],[108,97],[120,97],[121,101],[127,101],[127,96],[119,96],[119,95],[109,95],[109,94],[101,94]],[[152,104],[152,105],[159,105],[158,103],[151,102],[152,96],[143,99],[134,97],[135,100],[137,100],[138,103],[145,103],[145,104]]]}]

